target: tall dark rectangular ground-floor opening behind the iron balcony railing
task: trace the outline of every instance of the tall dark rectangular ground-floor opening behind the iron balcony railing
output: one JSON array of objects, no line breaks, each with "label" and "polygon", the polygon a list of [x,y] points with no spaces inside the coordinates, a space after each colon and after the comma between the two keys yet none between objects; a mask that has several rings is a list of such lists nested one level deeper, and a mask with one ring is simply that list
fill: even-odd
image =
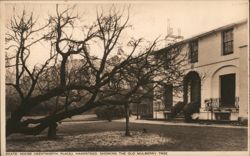
[{"label": "tall dark rectangular ground-floor opening behind the iron balcony railing", "polygon": [[235,103],[235,74],[220,76],[221,106],[232,107]]}]

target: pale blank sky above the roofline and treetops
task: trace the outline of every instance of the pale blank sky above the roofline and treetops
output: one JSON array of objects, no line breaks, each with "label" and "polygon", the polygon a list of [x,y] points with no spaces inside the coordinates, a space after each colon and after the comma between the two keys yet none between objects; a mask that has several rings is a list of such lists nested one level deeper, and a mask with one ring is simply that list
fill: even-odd
[{"label": "pale blank sky above the roofline and treetops", "polygon": [[[96,17],[96,9],[109,8],[114,2],[80,3],[76,9],[83,15],[85,22]],[[200,1],[137,1],[116,2],[117,7],[130,5],[130,24],[133,29],[129,36],[144,37],[153,40],[157,36],[167,34],[167,21],[177,32],[181,29],[182,36],[188,38],[211,29],[248,18],[247,0],[200,0]],[[26,9],[33,11],[39,18],[45,19],[55,10],[55,3],[6,3],[6,22],[12,16],[13,7],[16,12]],[[39,53],[36,56],[41,57]]]}]

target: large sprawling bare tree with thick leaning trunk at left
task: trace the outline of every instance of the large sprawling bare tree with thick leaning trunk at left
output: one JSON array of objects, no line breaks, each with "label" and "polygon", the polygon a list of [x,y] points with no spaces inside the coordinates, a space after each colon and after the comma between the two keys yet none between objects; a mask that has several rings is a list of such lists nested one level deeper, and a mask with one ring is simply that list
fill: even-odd
[{"label": "large sprawling bare tree with thick leaning trunk at left", "polygon": [[[60,9],[57,5],[55,10],[40,27],[33,14],[25,11],[10,21],[6,34],[10,79],[6,85],[13,87],[20,100],[7,121],[7,135],[39,134],[56,122],[106,104],[122,104],[128,114],[133,98],[140,100],[158,85],[179,81],[181,46],[158,57],[154,53],[158,39],[132,38],[124,43],[129,12],[125,15],[124,10],[111,7],[98,12],[92,25],[83,26],[74,7]],[[76,29],[79,25],[81,29]],[[39,42],[48,45],[50,57],[31,67],[27,63],[35,53],[31,47]],[[118,95],[122,98],[116,99]],[[23,119],[43,105],[54,110],[47,110],[40,119]]]}]

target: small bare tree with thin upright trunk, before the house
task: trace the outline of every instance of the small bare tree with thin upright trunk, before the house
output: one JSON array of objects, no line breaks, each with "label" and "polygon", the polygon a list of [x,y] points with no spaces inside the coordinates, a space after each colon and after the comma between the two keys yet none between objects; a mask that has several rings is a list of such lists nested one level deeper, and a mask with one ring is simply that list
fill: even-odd
[{"label": "small bare tree with thin upright trunk, before the house", "polygon": [[156,50],[159,43],[157,39],[152,43],[140,39],[131,40],[129,46],[137,47],[142,42],[149,46],[143,46],[138,55],[132,56],[130,63],[113,77],[112,86],[109,87],[113,96],[122,99],[117,103],[124,104],[127,136],[130,135],[130,104],[135,101],[140,103],[145,96],[155,94],[156,88],[163,88],[168,84],[177,84],[175,90],[178,91],[184,73],[182,69],[186,54],[182,53],[183,45],[174,44],[161,52]]}]

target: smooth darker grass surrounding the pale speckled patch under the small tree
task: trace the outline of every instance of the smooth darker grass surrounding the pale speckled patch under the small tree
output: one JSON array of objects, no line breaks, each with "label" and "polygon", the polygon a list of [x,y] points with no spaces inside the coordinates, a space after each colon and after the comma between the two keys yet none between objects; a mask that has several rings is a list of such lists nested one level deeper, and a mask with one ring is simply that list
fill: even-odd
[{"label": "smooth darker grass surrounding the pale speckled patch under the small tree", "polygon": [[[158,134],[174,140],[170,144],[157,144],[152,146],[126,145],[98,148],[69,147],[61,149],[64,151],[246,151],[247,129],[246,128],[218,128],[218,127],[194,127],[178,125],[153,125],[142,123],[131,123],[131,131],[142,131],[147,129],[149,134]],[[93,123],[62,123],[58,134],[62,136],[73,136],[79,134],[91,134],[108,131],[123,131],[125,124],[121,122],[93,122]],[[150,135],[148,136],[150,137]],[[7,139],[7,149],[14,137]],[[20,141],[20,140],[19,140]],[[25,141],[25,140],[24,140]],[[63,140],[58,140],[58,144]],[[33,141],[32,143],[36,143]],[[22,144],[22,141],[20,141]],[[16,149],[18,150],[18,149]],[[21,150],[21,149],[20,149]],[[53,150],[53,148],[52,148]]]}]

